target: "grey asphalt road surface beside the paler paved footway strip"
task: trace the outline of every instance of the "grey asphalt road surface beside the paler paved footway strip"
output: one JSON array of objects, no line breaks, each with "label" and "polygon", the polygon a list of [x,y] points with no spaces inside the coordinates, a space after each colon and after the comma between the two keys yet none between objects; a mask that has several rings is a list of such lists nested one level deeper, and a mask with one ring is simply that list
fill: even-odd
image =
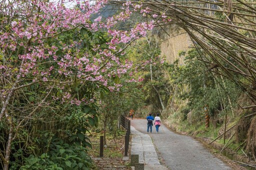
[{"label": "grey asphalt road surface beside the paler paved footway strip", "polygon": [[[168,130],[164,125],[160,126],[159,134],[156,134],[154,126],[152,134],[147,134],[146,120],[143,119],[131,120],[131,126],[141,134],[151,137],[156,150],[160,153],[168,169],[231,170],[231,168],[227,167],[222,161],[210,154],[198,141],[188,136],[177,135]],[[143,137],[141,138],[141,142],[143,140],[150,139]],[[133,147],[136,147],[137,144],[134,145],[133,142]]]}]

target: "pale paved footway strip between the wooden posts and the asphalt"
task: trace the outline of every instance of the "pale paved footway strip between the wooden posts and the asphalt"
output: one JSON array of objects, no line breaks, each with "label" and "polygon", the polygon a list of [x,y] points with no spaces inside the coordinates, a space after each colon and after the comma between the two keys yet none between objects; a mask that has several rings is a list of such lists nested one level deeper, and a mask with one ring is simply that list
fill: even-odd
[{"label": "pale paved footway strip between the wooden posts and the asphalt", "polygon": [[134,127],[130,127],[131,132],[131,155],[138,155],[138,163],[144,164],[144,170],[168,170],[161,166],[152,139],[149,135],[143,134]]}]

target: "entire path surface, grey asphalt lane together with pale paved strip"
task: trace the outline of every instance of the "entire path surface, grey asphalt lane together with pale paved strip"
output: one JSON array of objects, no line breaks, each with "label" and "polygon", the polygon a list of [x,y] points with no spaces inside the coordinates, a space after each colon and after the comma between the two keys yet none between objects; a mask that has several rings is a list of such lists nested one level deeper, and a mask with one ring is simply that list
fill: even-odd
[{"label": "entire path surface, grey asphalt lane together with pale paved strip", "polygon": [[[152,134],[149,135],[146,133],[146,120],[133,119],[131,126],[131,154],[139,155],[139,163],[146,166],[160,165],[154,144],[159,152],[159,159],[168,170],[231,170],[210,154],[201,143],[189,136],[175,134],[164,125],[160,126],[159,134],[156,134],[153,126]],[[150,170],[167,170],[166,167]]]}]

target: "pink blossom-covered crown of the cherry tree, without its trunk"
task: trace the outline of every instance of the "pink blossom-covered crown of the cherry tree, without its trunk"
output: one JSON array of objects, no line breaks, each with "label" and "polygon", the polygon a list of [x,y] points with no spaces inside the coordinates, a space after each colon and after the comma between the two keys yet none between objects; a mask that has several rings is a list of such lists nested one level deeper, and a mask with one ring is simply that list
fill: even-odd
[{"label": "pink blossom-covered crown of the cherry tree, without its trunk", "polygon": [[[6,28],[0,33],[2,77],[16,80],[19,86],[24,80],[31,80],[45,84],[54,82],[60,88],[63,86],[60,81],[68,83],[75,79],[80,84],[84,81],[99,82],[110,91],[119,90],[121,85],[111,83],[110,77],[120,77],[132,67],[132,62],[120,60],[124,55],[120,44],[145,36],[146,31],[153,28],[154,21],[137,23],[130,30],[117,30],[114,26],[128,19],[133,11],[140,11],[145,16],[150,9],[127,1],[123,4],[123,11],[102,20],[99,12],[107,0],[95,0],[93,4],[90,0],[69,0],[71,2],[75,4],[72,7],[65,6],[63,0],[4,2],[3,19],[0,21]],[[92,20],[92,15],[98,16]],[[161,17],[165,18],[164,14]],[[70,31],[77,33],[82,29],[92,33],[107,32],[109,40],[103,44],[106,47],[101,48],[102,44],[98,43],[86,51],[79,48],[85,43],[82,38],[64,37]],[[141,79],[128,82],[135,81]],[[12,85],[6,84],[4,91],[10,90]],[[62,102],[69,98],[70,95],[63,91]],[[88,102],[76,98],[70,101],[76,105]]]}]

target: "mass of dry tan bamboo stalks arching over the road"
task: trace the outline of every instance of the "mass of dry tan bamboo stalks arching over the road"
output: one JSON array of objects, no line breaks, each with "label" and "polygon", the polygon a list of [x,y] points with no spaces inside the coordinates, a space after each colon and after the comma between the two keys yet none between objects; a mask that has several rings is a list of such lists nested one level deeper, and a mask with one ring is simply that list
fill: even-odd
[{"label": "mass of dry tan bamboo stalks arching over the road", "polygon": [[[110,2],[123,3],[126,1],[112,0]],[[131,1],[131,3],[138,3],[138,1]],[[250,84],[254,84],[256,77],[256,69],[253,65],[256,60],[256,39],[253,36],[256,32],[256,8],[253,5],[255,3],[237,0],[232,3],[231,11],[223,10],[225,6],[224,0],[216,2],[206,0],[198,0],[197,2],[147,0],[142,3],[152,9],[150,14],[157,13],[161,15],[164,12],[169,16],[173,20],[170,23],[175,23],[175,26],[183,28],[190,38],[196,42],[193,42],[195,47],[201,49],[198,51],[208,55],[211,58],[210,63],[213,62],[218,66],[219,70],[216,73],[239,84],[244,91],[248,92],[253,101],[256,100],[256,91],[250,87]],[[202,6],[203,4],[214,4],[217,9]],[[210,15],[212,12],[225,15],[228,21]],[[229,18],[229,14],[235,19]],[[159,25],[163,26],[163,24]],[[202,31],[202,29],[204,30]],[[248,35],[243,32],[248,33]],[[203,38],[200,38],[198,34]],[[214,72],[214,70],[210,71]],[[246,81],[242,82],[235,76],[236,74],[244,77]],[[256,105],[244,107],[243,109],[253,107],[256,107]],[[231,111],[233,113],[232,108]]]}]

